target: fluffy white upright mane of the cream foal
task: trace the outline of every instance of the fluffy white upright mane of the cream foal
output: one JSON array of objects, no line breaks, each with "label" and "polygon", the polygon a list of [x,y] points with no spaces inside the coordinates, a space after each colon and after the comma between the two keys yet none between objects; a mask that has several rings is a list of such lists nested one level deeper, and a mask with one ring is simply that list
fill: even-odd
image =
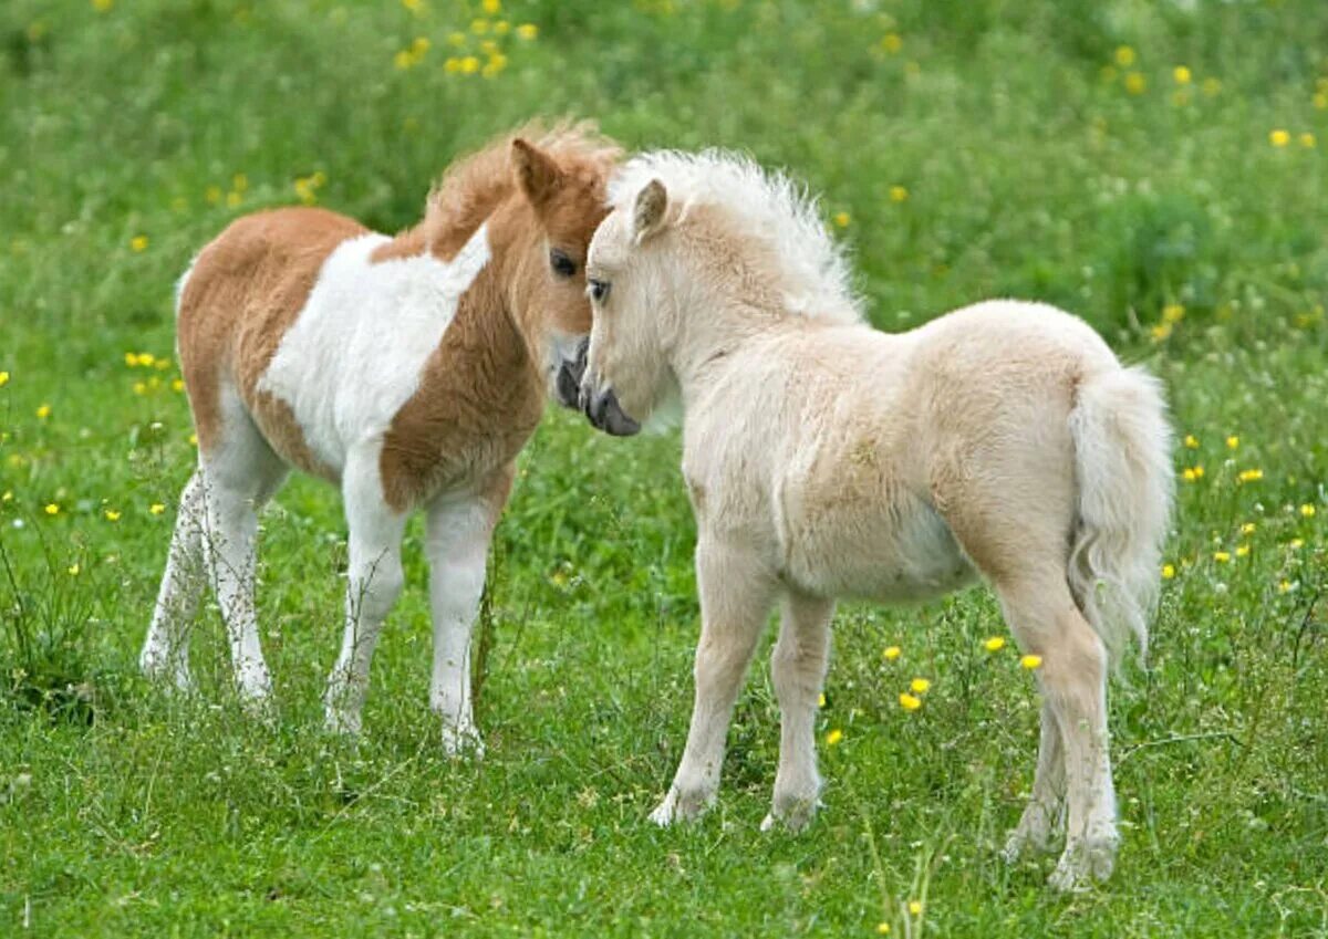
[{"label": "fluffy white upright mane of the cream foal", "polygon": [[610,180],[608,199],[631,211],[641,187],[659,179],[680,220],[696,207],[721,212],[744,240],[772,255],[790,313],[831,322],[862,322],[862,301],[843,248],[830,237],[806,186],[726,150],[656,150],[633,156]]}]

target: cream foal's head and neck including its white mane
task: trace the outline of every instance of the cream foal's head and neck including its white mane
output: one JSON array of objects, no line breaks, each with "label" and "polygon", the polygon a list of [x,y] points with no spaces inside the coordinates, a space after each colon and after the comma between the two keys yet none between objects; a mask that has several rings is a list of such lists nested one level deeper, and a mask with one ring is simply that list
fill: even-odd
[{"label": "cream foal's head and neck including its white mane", "polygon": [[637,432],[761,320],[862,320],[815,202],[746,156],[643,154],[608,199],[587,260],[594,326],[580,389],[599,430]]}]

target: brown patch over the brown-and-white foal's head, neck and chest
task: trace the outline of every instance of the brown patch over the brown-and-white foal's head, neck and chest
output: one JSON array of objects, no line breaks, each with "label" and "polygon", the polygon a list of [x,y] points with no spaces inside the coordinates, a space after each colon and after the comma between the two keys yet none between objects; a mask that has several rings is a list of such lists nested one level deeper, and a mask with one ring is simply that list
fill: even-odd
[{"label": "brown patch over the brown-and-white foal's head, neck and chest", "polygon": [[[420,389],[384,438],[384,496],[398,511],[511,462],[543,414],[548,333],[590,333],[586,252],[608,212],[606,184],[619,150],[583,134],[563,129],[538,146],[514,138],[501,163],[486,151],[449,172],[442,194],[453,179],[490,174],[474,183],[477,191],[490,196],[501,191],[503,199],[485,215],[463,211],[470,203],[459,198],[436,195],[430,202],[430,210],[438,208],[425,239],[429,249],[437,255],[446,247],[456,253],[487,220],[490,261],[462,296],[425,363]],[[452,223],[445,227],[441,219]],[[428,225],[430,218],[422,223]],[[420,237],[408,232],[393,244],[421,244]],[[551,248],[572,260],[574,276],[559,277],[550,269]]]}]

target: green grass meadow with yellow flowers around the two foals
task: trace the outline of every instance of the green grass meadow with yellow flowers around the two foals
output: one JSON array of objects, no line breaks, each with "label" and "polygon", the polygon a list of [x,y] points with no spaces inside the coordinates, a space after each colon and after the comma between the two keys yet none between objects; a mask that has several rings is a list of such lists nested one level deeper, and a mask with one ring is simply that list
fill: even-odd
[{"label": "green grass meadow with yellow flowers around the two foals", "polygon": [[[0,7],[0,935],[1328,935],[1328,8],[485,7]],[[716,810],[645,821],[691,708],[676,435],[550,412],[525,452],[479,764],[442,756],[426,707],[418,527],[365,736],[323,733],[345,540],[320,483],[264,516],[276,724],[242,716],[215,609],[195,699],[137,675],[194,459],[170,314],[191,253],[300,200],[393,231],[454,155],[562,113],[791,168],[883,329],[1042,298],[1166,381],[1179,511],[1147,668],[1112,695],[1105,889],[996,857],[1037,708],[1013,646],[984,647],[1005,629],[981,589],[842,607],[809,832],[757,830],[764,654]]]}]

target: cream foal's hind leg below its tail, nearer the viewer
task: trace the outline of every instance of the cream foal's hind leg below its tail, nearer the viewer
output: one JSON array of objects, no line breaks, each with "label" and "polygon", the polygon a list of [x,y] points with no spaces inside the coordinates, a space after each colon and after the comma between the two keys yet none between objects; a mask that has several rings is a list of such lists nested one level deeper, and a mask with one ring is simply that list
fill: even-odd
[{"label": "cream foal's hind leg below its tail, nearer the viewer", "polygon": [[[1064,577],[1013,589],[997,584],[997,593],[1020,645],[1042,657],[1038,686],[1064,748],[1065,850],[1048,882],[1058,890],[1084,890],[1112,874],[1120,842],[1108,755],[1106,650]],[[1052,789],[1056,773],[1044,779]],[[1035,800],[1037,794],[1035,782]]]}]

